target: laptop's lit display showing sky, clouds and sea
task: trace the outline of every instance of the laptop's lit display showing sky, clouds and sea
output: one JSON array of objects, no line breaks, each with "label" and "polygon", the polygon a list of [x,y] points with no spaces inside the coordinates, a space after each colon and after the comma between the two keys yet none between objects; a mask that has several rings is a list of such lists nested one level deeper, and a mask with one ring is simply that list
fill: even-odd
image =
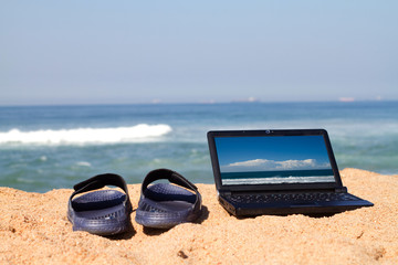
[{"label": "laptop's lit display showing sky, clouds and sea", "polygon": [[322,135],[214,137],[222,186],[335,182]]}]

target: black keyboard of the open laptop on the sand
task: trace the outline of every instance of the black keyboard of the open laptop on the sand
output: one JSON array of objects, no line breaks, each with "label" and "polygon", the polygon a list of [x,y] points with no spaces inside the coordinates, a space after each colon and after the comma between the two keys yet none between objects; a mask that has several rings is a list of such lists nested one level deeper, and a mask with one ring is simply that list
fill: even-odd
[{"label": "black keyboard of the open laptop on the sand", "polygon": [[240,194],[227,197],[232,202],[271,203],[271,202],[321,202],[321,201],[356,201],[358,198],[349,193],[308,192],[308,193],[275,193],[275,194]]}]

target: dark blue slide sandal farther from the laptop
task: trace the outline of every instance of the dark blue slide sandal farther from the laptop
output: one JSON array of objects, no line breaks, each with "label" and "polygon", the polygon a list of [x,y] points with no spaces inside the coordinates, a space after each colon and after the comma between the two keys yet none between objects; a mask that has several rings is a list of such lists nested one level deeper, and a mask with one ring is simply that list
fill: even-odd
[{"label": "dark blue slide sandal farther from the laptop", "polygon": [[[115,186],[117,190],[98,190],[85,193],[76,199],[76,194]],[[114,235],[130,227],[133,211],[126,182],[118,174],[98,174],[75,184],[69,200],[67,219],[73,224],[73,231],[86,231],[97,235]],[[72,200],[73,199],[73,200]]]}]

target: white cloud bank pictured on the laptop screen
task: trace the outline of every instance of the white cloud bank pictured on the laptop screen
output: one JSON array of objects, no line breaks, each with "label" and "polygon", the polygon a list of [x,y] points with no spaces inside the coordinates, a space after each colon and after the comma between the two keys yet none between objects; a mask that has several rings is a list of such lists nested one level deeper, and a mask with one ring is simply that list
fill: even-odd
[{"label": "white cloud bank pictured on the laptop screen", "polygon": [[249,172],[249,171],[281,171],[281,170],[311,170],[311,169],[329,169],[331,165],[318,163],[316,159],[304,160],[284,160],[275,161],[268,159],[253,159],[240,162],[233,162],[221,166],[222,172]]}]

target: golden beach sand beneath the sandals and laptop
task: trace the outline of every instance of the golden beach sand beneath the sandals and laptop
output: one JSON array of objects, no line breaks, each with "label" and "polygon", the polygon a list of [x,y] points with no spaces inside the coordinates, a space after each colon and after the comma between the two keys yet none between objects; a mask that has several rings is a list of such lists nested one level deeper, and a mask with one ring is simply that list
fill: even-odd
[{"label": "golden beach sand beneath the sandals and laptop", "polygon": [[[348,190],[373,208],[333,216],[237,219],[198,184],[198,223],[168,231],[143,229],[112,239],[72,232],[70,189],[31,193],[0,188],[0,264],[398,264],[398,176],[345,169]],[[139,184],[128,186],[133,206]]]}]

